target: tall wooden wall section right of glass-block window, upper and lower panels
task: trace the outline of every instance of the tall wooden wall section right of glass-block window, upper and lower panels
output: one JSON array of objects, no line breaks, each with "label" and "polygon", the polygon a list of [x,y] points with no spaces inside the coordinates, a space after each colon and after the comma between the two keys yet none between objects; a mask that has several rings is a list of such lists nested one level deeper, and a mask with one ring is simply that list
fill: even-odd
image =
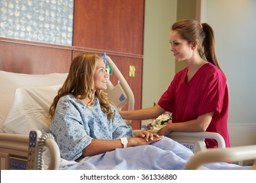
[{"label": "tall wooden wall section right of glass-block window, upper and lower panels", "polygon": [[[144,0],[75,0],[74,56],[78,52],[106,52],[116,63],[141,108]],[[135,65],[135,77],[129,66]],[[110,76],[116,84],[116,76]],[[133,129],[141,122],[133,121]]]}]

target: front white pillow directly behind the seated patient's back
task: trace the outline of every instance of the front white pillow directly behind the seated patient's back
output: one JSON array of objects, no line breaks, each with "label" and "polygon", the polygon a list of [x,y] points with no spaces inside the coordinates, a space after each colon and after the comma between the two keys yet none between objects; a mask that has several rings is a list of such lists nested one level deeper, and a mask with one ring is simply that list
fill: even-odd
[{"label": "front white pillow directly behind the seated patient's back", "polygon": [[61,86],[18,88],[3,124],[5,133],[28,135],[36,129],[49,133],[49,107]]}]

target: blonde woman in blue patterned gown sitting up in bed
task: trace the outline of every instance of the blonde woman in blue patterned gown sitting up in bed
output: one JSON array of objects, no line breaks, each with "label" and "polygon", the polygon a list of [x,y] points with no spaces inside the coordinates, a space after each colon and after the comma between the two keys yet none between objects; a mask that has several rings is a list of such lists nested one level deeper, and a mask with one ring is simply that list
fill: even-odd
[{"label": "blonde woman in blue patterned gown sitting up in bed", "polygon": [[[154,146],[148,146],[146,150],[148,154],[152,151],[152,156],[156,154],[158,146],[175,150],[173,146],[177,142],[161,138],[156,133],[143,131],[136,137],[133,136],[131,127],[125,124],[104,93],[108,76],[106,63],[97,54],[79,54],[72,61],[68,77],[49,109],[52,119],[50,132],[60,148],[61,157],[77,160],[117,148],[142,147],[153,142],[156,142]],[[162,153],[173,156],[173,152],[163,150]],[[193,155],[183,147],[178,158],[182,154],[186,154],[186,157]],[[144,152],[142,155],[144,156]],[[133,157],[133,154],[129,156]],[[142,161],[140,163],[143,164]]]}]

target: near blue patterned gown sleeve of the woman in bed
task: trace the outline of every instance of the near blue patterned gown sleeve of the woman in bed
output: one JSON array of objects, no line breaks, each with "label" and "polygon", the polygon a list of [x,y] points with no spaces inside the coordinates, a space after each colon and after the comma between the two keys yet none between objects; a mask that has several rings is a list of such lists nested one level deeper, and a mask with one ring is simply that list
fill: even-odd
[{"label": "near blue patterned gown sleeve of the woman in bed", "polygon": [[67,160],[75,160],[82,155],[92,138],[85,131],[77,103],[72,100],[59,101],[50,132],[60,148],[60,155]]}]

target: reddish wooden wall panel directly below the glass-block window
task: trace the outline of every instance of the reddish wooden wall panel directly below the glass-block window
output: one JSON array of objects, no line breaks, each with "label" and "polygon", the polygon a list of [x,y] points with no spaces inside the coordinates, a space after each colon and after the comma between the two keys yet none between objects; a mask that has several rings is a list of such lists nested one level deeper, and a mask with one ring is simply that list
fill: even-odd
[{"label": "reddish wooden wall panel directly below the glass-block window", "polygon": [[68,73],[72,46],[0,37],[0,70],[12,73]]}]

